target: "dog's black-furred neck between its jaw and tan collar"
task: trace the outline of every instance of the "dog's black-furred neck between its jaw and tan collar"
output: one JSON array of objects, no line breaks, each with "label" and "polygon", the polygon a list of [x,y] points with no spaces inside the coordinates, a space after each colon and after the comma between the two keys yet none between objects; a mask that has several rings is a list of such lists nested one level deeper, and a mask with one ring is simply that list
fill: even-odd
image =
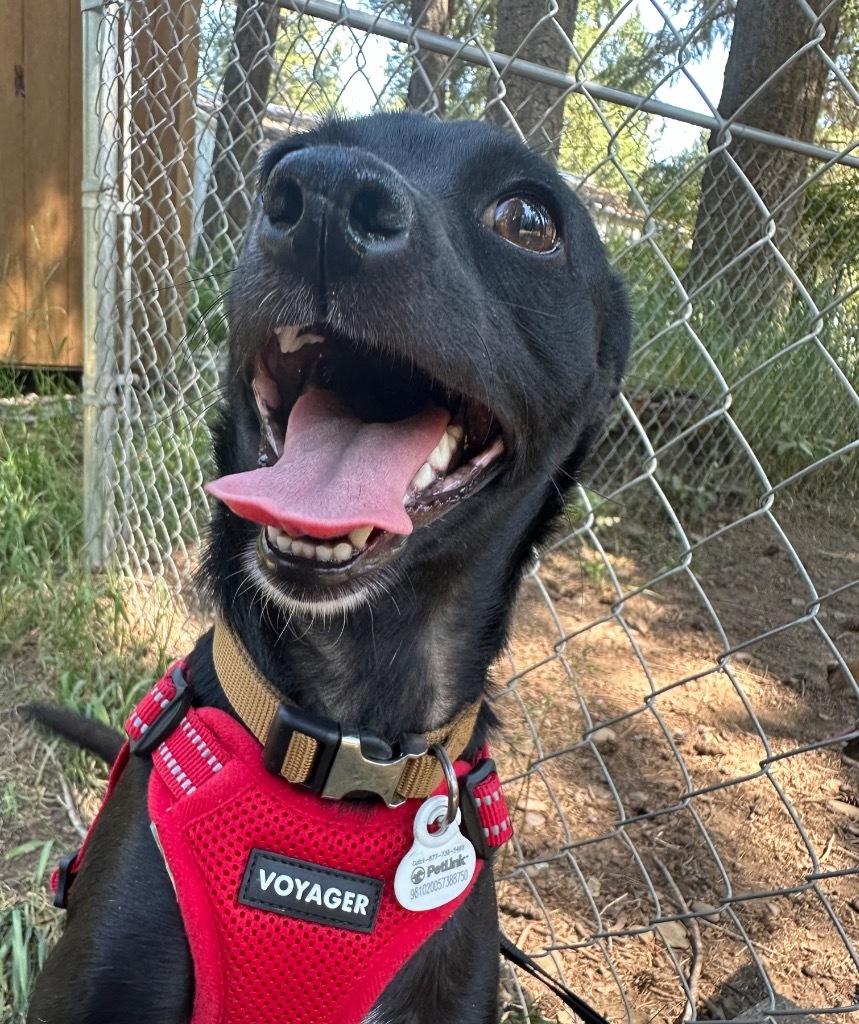
[{"label": "dog's black-furred neck between its jaw and tan collar", "polygon": [[[492,516],[455,524],[456,549],[422,540],[366,603],[338,615],[290,615],[254,596],[248,535],[239,542],[229,521],[213,531],[204,584],[215,585],[219,613],[285,697],[388,741],[426,733],[486,692],[522,566],[557,512],[547,499],[554,494],[527,482],[508,486]],[[506,528],[492,529],[492,521]],[[211,654],[201,662],[211,667]],[[218,691],[213,678],[204,699],[225,707]]]}]

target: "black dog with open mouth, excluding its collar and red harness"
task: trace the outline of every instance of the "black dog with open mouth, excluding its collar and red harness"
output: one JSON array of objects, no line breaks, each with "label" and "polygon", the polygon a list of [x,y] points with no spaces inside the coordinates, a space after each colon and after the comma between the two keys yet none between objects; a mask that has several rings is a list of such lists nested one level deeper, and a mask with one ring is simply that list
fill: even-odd
[{"label": "black dog with open mouth, excluding its collar and red harness", "polygon": [[[617,392],[624,290],[542,159],[398,114],[266,153],[230,294],[202,582],[284,698],[390,754],[486,692],[522,567]],[[230,710],[211,635],[187,671],[195,706]],[[484,707],[466,756],[491,724]],[[190,1020],[151,770],[132,757],[97,822],[34,1024]],[[367,1020],[489,1024],[497,989],[484,870]]]}]

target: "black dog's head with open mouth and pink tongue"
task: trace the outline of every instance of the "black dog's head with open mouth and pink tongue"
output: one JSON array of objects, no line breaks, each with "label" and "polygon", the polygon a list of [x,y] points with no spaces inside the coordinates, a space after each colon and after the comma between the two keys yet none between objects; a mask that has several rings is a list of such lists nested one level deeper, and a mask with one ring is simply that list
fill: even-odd
[{"label": "black dog's head with open mouth and pink tongue", "polygon": [[222,603],[290,614],[480,563],[510,589],[629,347],[561,177],[497,128],[409,114],[266,153],[229,319],[209,564]]}]

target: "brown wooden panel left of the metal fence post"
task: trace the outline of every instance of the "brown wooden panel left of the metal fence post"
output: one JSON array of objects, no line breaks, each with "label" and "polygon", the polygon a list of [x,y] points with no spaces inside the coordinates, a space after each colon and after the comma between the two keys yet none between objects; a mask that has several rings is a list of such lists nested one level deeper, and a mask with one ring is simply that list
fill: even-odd
[{"label": "brown wooden panel left of the metal fence post", "polygon": [[80,367],[81,13],[6,0],[0,34],[0,359]]}]

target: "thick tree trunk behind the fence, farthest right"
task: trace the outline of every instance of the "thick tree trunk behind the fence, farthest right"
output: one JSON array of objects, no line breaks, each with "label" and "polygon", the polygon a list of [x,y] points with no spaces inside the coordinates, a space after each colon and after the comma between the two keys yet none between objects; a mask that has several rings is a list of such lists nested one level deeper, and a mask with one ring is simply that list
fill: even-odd
[{"label": "thick tree trunk behind the fence, farthest right", "polygon": [[[810,0],[817,12],[829,2]],[[822,20],[827,52],[840,9],[833,4]],[[786,65],[812,38],[812,23],[794,0],[737,0],[722,117],[812,141],[827,69],[816,48]],[[717,132],[708,150],[686,287],[717,296],[723,316],[747,325],[783,310],[789,299],[789,276],[773,245],[793,262],[807,158],[739,137],[723,148]]]}]

